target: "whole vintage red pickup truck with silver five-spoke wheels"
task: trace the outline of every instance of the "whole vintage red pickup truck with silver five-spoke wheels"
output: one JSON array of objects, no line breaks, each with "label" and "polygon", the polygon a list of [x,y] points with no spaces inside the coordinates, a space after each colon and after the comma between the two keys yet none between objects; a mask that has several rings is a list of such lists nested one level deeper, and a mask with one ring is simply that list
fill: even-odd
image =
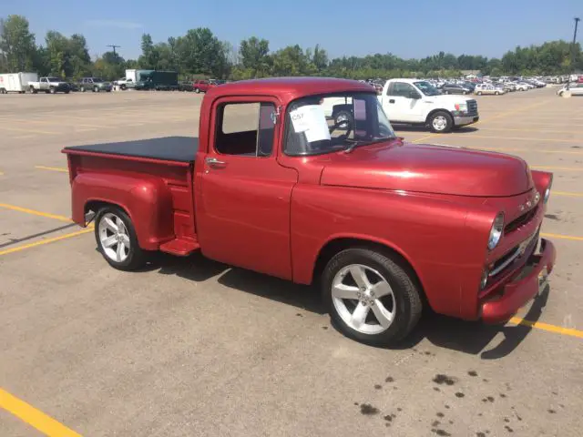
[{"label": "whole vintage red pickup truck with silver five-spoke wheels", "polygon": [[[340,102],[342,120],[325,117]],[[117,269],[148,252],[319,284],[334,325],[393,344],[422,309],[504,322],[556,251],[539,238],[552,173],[521,158],[411,144],[373,88],[271,78],[210,89],[199,137],[66,147],[73,220]]]}]

